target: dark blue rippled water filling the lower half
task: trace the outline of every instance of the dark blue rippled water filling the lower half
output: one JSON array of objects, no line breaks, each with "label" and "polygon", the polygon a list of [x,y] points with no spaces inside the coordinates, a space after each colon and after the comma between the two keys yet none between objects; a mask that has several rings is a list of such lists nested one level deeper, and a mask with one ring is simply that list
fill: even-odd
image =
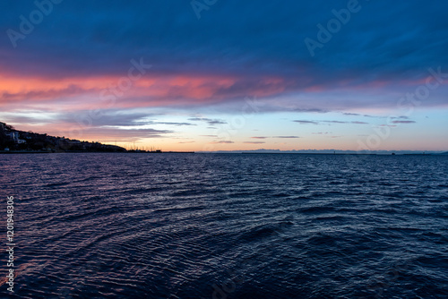
[{"label": "dark blue rippled water filling the lower half", "polygon": [[446,156],[1,155],[11,297],[447,298],[447,174]]}]

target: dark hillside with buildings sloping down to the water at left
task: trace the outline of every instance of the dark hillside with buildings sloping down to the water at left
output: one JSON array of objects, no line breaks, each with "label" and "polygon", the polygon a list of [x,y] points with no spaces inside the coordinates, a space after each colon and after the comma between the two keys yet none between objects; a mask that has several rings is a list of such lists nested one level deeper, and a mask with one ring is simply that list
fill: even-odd
[{"label": "dark hillside with buildings sloping down to the water at left", "polygon": [[116,145],[19,131],[15,130],[12,125],[4,123],[0,123],[0,150],[126,151]]}]

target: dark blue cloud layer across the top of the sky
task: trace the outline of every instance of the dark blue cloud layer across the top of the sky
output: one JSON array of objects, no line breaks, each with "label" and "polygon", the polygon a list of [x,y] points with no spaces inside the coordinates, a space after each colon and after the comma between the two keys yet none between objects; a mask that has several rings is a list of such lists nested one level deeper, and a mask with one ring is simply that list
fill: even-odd
[{"label": "dark blue cloud layer across the top of the sky", "polygon": [[123,73],[130,59],[145,57],[158,73],[308,74],[309,84],[335,73],[358,81],[414,78],[447,65],[448,3],[417,0],[359,1],[362,9],[310,56],[304,39],[315,39],[316,25],[326,26],[332,9],[347,3],[218,1],[198,20],[190,1],[65,0],[13,48],[6,30],[19,31],[20,16],[29,19],[36,5],[4,1],[1,66],[47,75]]}]

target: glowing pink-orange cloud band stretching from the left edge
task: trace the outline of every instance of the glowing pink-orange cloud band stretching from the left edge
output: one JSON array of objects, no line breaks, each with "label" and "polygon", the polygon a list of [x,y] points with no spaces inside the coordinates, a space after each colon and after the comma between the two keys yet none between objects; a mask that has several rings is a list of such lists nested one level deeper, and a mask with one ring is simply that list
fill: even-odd
[{"label": "glowing pink-orange cloud band stretching from the left edge", "polygon": [[[113,96],[115,107],[157,107],[211,103],[227,98],[258,97],[285,90],[279,78],[262,78],[247,83],[245,79],[225,76],[157,76],[140,79],[96,76],[73,78],[17,77],[0,74],[0,107],[52,104],[51,107],[82,109],[104,106],[100,98]],[[48,105],[50,107],[50,105]]]}]

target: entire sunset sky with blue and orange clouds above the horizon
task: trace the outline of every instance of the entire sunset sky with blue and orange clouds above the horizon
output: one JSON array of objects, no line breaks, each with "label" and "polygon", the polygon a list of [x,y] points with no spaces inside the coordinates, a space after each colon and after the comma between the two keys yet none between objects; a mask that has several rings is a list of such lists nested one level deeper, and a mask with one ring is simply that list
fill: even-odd
[{"label": "entire sunset sky with blue and orange clouds above the horizon", "polygon": [[2,1],[0,121],[127,149],[446,151],[447,11]]}]

